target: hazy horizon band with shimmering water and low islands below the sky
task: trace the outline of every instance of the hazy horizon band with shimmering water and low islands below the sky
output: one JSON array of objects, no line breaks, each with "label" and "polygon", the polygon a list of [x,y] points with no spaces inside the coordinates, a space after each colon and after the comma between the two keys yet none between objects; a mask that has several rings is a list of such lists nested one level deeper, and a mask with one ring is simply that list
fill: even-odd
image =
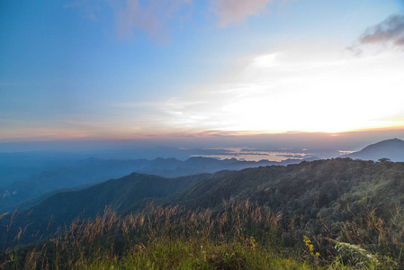
[{"label": "hazy horizon band with shimmering water and low islands below the sky", "polygon": [[[399,133],[400,134],[399,130]],[[363,134],[324,134],[324,133],[287,133],[271,134],[276,137],[251,135],[247,138],[223,136],[219,139],[201,140],[54,140],[54,141],[22,141],[0,143],[0,154],[3,157],[57,157],[67,159],[148,159],[157,157],[187,160],[191,157],[212,157],[219,160],[235,158],[239,161],[283,162],[288,159],[313,160],[337,157],[359,152],[375,143],[393,139],[384,138],[385,133],[367,137]],[[324,136],[328,135],[328,136]],[[392,135],[397,135],[392,134]],[[345,138],[342,138],[345,137]],[[201,139],[201,138],[197,138]],[[377,139],[377,140],[375,140]],[[254,141],[254,143],[252,143]],[[9,154],[17,156],[7,156]],[[28,156],[27,156],[28,155]]]}]

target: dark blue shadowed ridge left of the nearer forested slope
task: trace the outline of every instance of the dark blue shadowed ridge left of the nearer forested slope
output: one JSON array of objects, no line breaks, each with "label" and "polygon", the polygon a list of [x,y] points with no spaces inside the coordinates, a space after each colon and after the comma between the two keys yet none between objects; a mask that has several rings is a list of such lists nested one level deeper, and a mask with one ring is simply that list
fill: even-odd
[{"label": "dark blue shadowed ridge left of the nearer forested slope", "polygon": [[[7,234],[15,236],[23,228],[26,238],[22,243],[37,240],[78,217],[94,218],[103,213],[106,206],[113,211],[125,212],[141,199],[165,197],[209,176],[165,178],[132,173],[82,190],[56,193],[28,210],[10,213],[0,219],[0,238]],[[8,229],[10,223],[14,226]]]}]

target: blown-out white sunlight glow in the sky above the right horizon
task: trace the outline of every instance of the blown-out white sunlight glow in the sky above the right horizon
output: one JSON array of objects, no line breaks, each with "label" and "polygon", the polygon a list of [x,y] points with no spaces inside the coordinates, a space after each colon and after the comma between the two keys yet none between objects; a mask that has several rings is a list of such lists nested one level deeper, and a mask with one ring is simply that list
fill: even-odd
[{"label": "blown-out white sunlight glow in the sky above the right horizon", "polygon": [[171,123],[216,130],[326,132],[404,124],[400,54],[292,55],[278,51],[256,56],[232,82],[172,100],[167,103],[176,108]]}]

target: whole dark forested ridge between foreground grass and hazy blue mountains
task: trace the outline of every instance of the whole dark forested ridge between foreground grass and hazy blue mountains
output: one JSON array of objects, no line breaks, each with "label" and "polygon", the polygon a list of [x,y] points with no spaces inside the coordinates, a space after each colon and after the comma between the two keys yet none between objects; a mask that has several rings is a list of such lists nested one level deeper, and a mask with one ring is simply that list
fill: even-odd
[{"label": "whole dark forested ridge between foreground grass and hazy blue mountains", "polygon": [[[336,222],[346,221],[364,202],[377,206],[382,217],[389,217],[391,209],[404,202],[402,179],[404,163],[351,158],[179,178],[131,174],[80,191],[57,193],[16,213],[14,220],[10,213],[0,220],[0,238],[4,238],[11,220],[10,236],[18,234],[19,228],[26,228],[28,236],[40,236],[64,228],[78,216],[94,218],[107,205],[126,215],[143,210],[148,202],[221,211],[223,202],[249,200],[274,212],[282,211],[285,219],[298,216],[313,226],[320,225],[321,217],[321,222],[332,228]],[[32,239],[38,238],[24,241]]]}]

